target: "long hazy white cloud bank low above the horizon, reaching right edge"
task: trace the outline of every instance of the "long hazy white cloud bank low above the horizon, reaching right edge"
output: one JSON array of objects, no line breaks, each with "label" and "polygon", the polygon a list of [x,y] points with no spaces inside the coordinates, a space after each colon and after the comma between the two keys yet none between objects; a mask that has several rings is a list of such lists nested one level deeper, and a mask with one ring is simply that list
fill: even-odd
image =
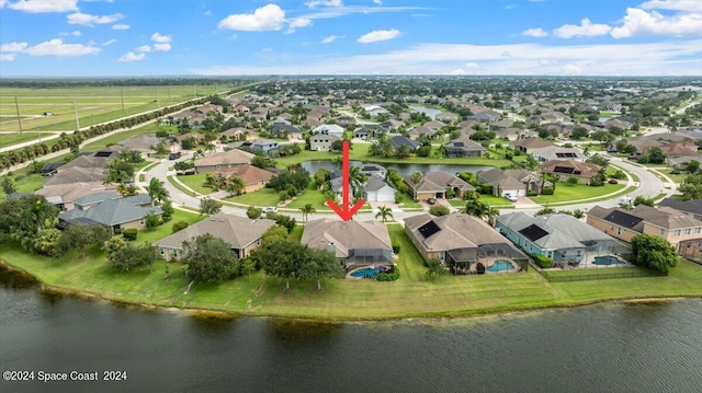
[{"label": "long hazy white cloud bank low above the horizon, reaching right edge", "polygon": [[[508,54],[505,56],[503,54]],[[480,74],[564,76],[577,67],[584,76],[699,74],[702,69],[702,39],[659,43],[614,43],[590,45],[468,45],[418,44],[376,55],[310,57],[304,62],[237,67],[216,66],[189,70],[197,74],[444,74],[476,62]],[[566,67],[570,65],[573,67]],[[469,71],[461,67],[466,73]]]}]

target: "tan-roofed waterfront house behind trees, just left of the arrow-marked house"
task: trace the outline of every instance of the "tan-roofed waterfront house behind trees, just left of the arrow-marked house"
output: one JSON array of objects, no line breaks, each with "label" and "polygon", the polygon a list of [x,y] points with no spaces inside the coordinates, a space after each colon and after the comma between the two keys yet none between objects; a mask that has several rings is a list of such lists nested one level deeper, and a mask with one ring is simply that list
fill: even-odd
[{"label": "tan-roofed waterfront house behind trees, just left of the arrow-marked house", "polygon": [[178,261],[183,256],[183,242],[212,234],[228,243],[231,252],[241,259],[261,245],[261,236],[274,226],[275,221],[269,219],[252,220],[219,212],[161,239],[157,246],[163,258]]}]

